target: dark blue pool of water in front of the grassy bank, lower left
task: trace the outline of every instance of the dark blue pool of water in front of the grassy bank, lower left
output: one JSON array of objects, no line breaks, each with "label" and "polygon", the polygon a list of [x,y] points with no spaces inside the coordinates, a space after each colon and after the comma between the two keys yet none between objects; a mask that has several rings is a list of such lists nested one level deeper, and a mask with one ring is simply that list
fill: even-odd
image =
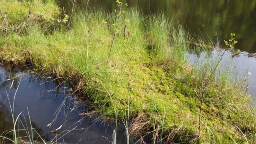
[{"label": "dark blue pool of water in front of the grassy bank, lower left", "polygon": [[[102,124],[101,121],[95,121],[95,117],[79,115],[81,112],[86,112],[88,107],[76,97],[71,96],[69,90],[65,84],[58,86],[50,77],[40,80],[28,71],[7,71],[0,67],[0,135],[6,130],[13,130],[11,108],[15,100],[15,119],[21,113],[20,120],[18,120],[19,129],[30,128],[30,117],[32,127],[46,141],[56,136],[55,133],[50,133],[51,130],[62,126],[56,131],[61,133],[57,136],[57,139],[60,138],[58,142],[66,144],[110,143],[113,129],[109,127],[106,131],[107,125]],[[35,135],[34,139],[38,136]],[[6,136],[11,137],[12,132]],[[19,131],[19,136],[27,136],[27,134],[23,130]],[[56,138],[53,142],[55,140]],[[37,141],[40,141],[40,138]],[[118,143],[122,144],[124,141],[120,139]]]}]

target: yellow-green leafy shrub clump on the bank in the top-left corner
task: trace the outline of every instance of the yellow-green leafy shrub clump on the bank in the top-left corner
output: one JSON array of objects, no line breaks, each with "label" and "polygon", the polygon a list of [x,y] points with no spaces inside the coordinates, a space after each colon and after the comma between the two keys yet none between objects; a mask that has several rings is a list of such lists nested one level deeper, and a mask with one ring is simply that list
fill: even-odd
[{"label": "yellow-green leafy shrub clump on the bank in the top-left corner", "polygon": [[[6,10],[6,20],[8,22],[8,31],[20,34],[21,29],[34,23],[41,26],[49,27],[60,16],[60,8],[55,4],[42,4],[36,1],[10,1],[2,0],[0,2],[1,10]],[[3,12],[2,12],[3,13]],[[0,18],[0,26],[6,28],[6,23],[3,18]],[[25,34],[25,33],[23,33]]]}]

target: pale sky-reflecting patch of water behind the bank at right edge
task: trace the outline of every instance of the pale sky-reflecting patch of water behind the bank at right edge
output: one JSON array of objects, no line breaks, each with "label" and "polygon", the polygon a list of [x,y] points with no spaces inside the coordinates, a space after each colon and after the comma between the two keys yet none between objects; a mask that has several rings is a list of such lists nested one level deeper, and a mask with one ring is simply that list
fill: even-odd
[{"label": "pale sky-reflecting patch of water behind the bank at right edge", "polygon": [[[199,66],[210,66],[218,62],[220,55],[224,52],[223,49],[206,51],[206,52],[195,52],[194,50],[188,51],[189,61],[194,64],[195,67]],[[210,60],[209,60],[210,58]],[[220,66],[217,69],[217,73],[226,74],[225,78],[237,78],[239,82],[248,80],[247,92],[256,98],[256,67],[253,65],[256,62],[255,54],[248,52],[241,52],[240,54],[233,57],[232,52],[225,52],[224,57],[220,62]],[[207,69],[208,70],[208,69]],[[247,83],[244,82],[244,88]]]}]

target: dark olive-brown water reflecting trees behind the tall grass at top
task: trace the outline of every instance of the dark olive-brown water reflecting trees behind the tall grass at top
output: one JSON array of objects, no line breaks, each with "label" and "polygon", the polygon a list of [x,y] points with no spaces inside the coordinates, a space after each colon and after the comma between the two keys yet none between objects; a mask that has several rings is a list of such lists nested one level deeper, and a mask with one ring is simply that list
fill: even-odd
[{"label": "dark olive-brown water reflecting trees behind the tall grass at top", "polygon": [[[256,51],[256,0],[122,0],[137,5],[145,14],[163,11],[177,16],[180,24],[192,34],[199,34],[223,41],[236,33],[236,48]],[[88,0],[76,0],[79,6],[86,6]],[[70,0],[60,3],[72,9]],[[115,0],[89,0],[90,6],[100,5],[109,10],[116,8]]]}]

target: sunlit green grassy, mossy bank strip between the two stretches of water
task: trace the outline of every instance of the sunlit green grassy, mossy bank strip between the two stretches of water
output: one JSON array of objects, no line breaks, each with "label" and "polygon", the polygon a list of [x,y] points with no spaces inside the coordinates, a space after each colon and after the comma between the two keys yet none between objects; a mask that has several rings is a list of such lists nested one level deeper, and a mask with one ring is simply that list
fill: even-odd
[{"label": "sunlit green grassy, mossy bank strip between the two stretches of water", "polygon": [[[9,5],[22,7],[20,21],[26,20],[28,3],[2,3],[10,9],[10,15],[18,12],[12,14]],[[189,64],[185,52],[190,36],[181,26],[174,27],[176,22],[168,16],[145,17],[136,8],[123,8],[125,13],[114,35],[119,16],[116,12],[77,10],[65,21],[58,20],[58,12],[44,15],[48,10],[59,10],[54,4],[41,7],[36,13],[41,19],[29,20],[21,32],[2,32],[0,60],[30,64],[41,74],[67,76],[73,91],[88,97],[100,118],[116,122],[114,139],[121,122],[126,127],[127,142],[147,136],[154,142],[254,142],[252,101],[241,90],[241,83],[227,80],[225,72],[216,73],[205,90],[201,134],[197,135],[201,91],[214,62],[212,66]],[[7,20],[9,25],[20,23],[9,20],[9,16]]]}]

